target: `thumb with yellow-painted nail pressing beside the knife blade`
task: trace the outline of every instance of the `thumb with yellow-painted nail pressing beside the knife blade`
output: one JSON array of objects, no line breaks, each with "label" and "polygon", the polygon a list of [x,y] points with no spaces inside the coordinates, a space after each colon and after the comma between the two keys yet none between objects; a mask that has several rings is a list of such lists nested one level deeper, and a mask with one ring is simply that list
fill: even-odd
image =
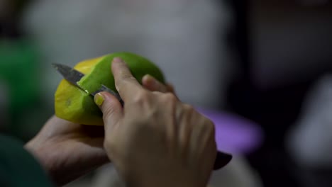
[{"label": "thumb with yellow-painted nail pressing beside the knife blade", "polygon": [[100,92],[94,96],[94,103],[103,113],[105,133],[111,132],[111,128],[123,117],[123,109],[118,99],[106,91]]}]

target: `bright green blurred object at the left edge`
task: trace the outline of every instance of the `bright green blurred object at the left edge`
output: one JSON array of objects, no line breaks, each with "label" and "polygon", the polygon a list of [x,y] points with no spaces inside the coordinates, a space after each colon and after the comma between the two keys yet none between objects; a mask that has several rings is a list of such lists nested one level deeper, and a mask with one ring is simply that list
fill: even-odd
[{"label": "bright green blurred object at the left edge", "polygon": [[25,111],[40,104],[40,61],[38,50],[28,39],[0,40],[0,79],[9,89],[9,131],[15,135],[16,121]]}]

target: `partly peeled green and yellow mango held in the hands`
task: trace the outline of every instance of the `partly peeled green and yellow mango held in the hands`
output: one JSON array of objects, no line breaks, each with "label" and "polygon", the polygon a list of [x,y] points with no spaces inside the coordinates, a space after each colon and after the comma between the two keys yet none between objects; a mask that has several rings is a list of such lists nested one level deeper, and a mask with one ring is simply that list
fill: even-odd
[{"label": "partly peeled green and yellow mango held in the hands", "polygon": [[[94,103],[90,93],[98,91],[101,85],[116,91],[111,62],[114,57],[121,57],[128,64],[133,76],[141,84],[145,74],[150,74],[158,81],[165,83],[164,75],[157,65],[140,55],[131,52],[116,52],[90,60],[84,60],[74,66],[85,76],[77,82],[82,89],[62,79],[55,91],[55,115],[58,118],[82,125],[104,125],[102,113]],[[126,102],[126,101],[125,101]]]}]

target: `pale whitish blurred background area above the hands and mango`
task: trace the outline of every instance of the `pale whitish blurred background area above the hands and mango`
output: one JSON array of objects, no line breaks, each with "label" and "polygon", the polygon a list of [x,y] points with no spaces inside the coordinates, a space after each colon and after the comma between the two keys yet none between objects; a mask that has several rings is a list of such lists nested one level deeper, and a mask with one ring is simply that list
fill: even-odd
[{"label": "pale whitish blurred background area above the hands and mango", "polygon": [[50,63],[74,66],[128,51],[155,62],[182,101],[216,108],[231,74],[219,42],[230,18],[228,8],[213,0],[43,0],[28,8],[23,25],[43,50],[46,101],[60,80]]}]

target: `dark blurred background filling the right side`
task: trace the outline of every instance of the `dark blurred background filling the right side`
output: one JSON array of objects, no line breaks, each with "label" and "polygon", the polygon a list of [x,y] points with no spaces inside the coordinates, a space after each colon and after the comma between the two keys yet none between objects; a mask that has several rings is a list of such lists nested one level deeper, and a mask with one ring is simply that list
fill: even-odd
[{"label": "dark blurred background filling the right side", "polygon": [[307,2],[227,1],[236,13],[228,42],[240,64],[227,108],[265,132],[262,147],[248,155],[265,186],[332,184],[331,171],[297,166],[284,145],[310,86],[332,69],[331,1]]}]

